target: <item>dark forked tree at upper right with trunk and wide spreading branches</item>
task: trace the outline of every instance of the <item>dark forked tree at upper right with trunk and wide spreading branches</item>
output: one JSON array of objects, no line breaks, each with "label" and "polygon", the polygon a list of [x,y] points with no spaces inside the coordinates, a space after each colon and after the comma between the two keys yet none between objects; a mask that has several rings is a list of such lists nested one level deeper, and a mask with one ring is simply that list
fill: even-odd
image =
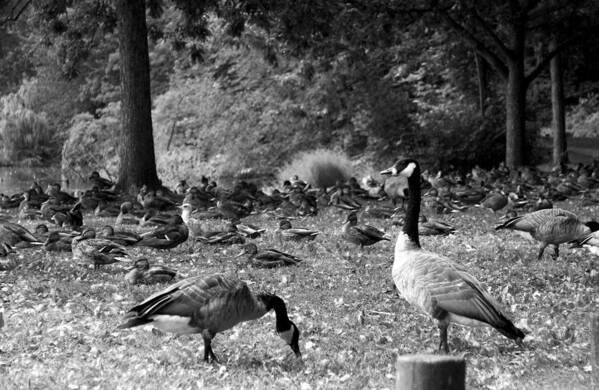
[{"label": "dark forked tree at upper right with trunk and wide spreading branches", "polygon": [[[426,3],[504,80],[506,164],[517,167],[526,163],[526,91],[555,55],[570,45],[580,43],[589,33],[584,24],[594,24],[599,4],[591,0],[435,0]],[[556,42],[554,49],[540,61],[527,62],[527,49],[534,44],[532,39],[541,36],[531,32],[575,17],[581,22],[577,33]]]}]

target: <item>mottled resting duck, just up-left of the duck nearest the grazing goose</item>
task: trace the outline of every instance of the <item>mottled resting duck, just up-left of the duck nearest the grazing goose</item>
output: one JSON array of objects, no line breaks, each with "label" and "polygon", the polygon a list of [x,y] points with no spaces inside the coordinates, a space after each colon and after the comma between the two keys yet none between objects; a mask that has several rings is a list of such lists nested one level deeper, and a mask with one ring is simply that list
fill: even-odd
[{"label": "mottled resting duck, just up-left of the duck nearest the grazing goose", "polygon": [[129,254],[121,245],[104,238],[96,238],[96,231],[87,227],[80,235],[73,237],[71,244],[73,259],[100,266],[125,261]]}]

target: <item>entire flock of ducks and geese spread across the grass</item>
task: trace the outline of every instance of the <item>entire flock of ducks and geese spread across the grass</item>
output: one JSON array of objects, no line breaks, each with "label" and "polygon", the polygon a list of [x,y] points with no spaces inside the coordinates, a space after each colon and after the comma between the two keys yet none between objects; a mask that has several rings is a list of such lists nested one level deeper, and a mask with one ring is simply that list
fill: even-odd
[{"label": "entire flock of ducks and geese spread across the grass", "polygon": [[[89,177],[92,188],[76,196],[56,183],[48,184],[45,191],[33,183],[24,192],[0,195],[0,272],[26,272],[19,267],[17,253],[41,247],[71,252],[73,260],[83,265],[81,272],[124,265],[125,280],[131,285],[172,283],[130,308],[119,327],[151,324],[165,332],[200,333],[204,360],[217,362],[211,346],[217,333],[271,310],[277,334],[300,358],[300,329],[290,320],[284,300],[270,292],[252,291],[231,274],[182,278],[168,264],[136,258],[136,247],[170,251],[185,243],[191,251],[198,251],[203,246],[231,245],[239,248],[238,257],[247,259],[241,266],[302,267],[306,259],[275,248],[258,248],[253,240],[267,231],[274,233],[279,247],[283,242],[300,246],[323,239],[318,230],[300,227],[302,220],[334,207],[346,216],[338,234],[348,246],[361,253],[367,246],[387,245],[391,253],[393,247],[387,242],[392,237],[359,223],[359,217],[391,221],[401,226],[394,240],[393,282],[403,299],[435,320],[439,349],[444,352],[450,350],[451,323],[491,326],[517,343],[525,338],[525,331],[514,325],[457,259],[422,248],[422,235],[460,234],[433,215],[472,207],[488,209],[497,216],[495,229],[529,234],[539,243],[537,260],[549,245],[554,260],[561,244],[591,251],[599,248],[599,223],[553,207],[553,202],[569,198],[578,198],[583,206],[599,204],[599,161],[550,173],[500,166],[444,176],[422,172],[417,160],[400,159],[380,175],[386,178],[382,184],[372,177],[361,184],[351,178],[328,189],[311,188],[294,177],[268,194],[252,182],[239,180],[232,188],[223,188],[205,177],[194,186],[183,180],[174,190],[142,186],[136,196],[116,192],[114,184],[98,172]],[[271,215],[276,225],[259,227],[243,221],[260,213]],[[94,226],[100,217],[114,223]],[[224,229],[208,229],[222,226],[218,220],[225,221]],[[35,229],[24,227],[25,222]]]}]

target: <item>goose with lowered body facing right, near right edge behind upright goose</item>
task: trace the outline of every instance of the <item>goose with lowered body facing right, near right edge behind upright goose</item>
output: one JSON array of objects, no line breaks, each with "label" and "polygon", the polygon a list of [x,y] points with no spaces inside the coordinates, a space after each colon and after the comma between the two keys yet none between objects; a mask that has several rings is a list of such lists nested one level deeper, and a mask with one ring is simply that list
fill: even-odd
[{"label": "goose with lowered body facing right, near right edge behind upright goose", "polygon": [[578,240],[587,234],[599,230],[599,222],[582,222],[576,214],[562,209],[543,209],[511,218],[497,225],[496,230],[518,230],[541,242],[537,260],[541,260],[545,248],[552,244],[555,248],[553,259],[559,256],[559,245]]}]

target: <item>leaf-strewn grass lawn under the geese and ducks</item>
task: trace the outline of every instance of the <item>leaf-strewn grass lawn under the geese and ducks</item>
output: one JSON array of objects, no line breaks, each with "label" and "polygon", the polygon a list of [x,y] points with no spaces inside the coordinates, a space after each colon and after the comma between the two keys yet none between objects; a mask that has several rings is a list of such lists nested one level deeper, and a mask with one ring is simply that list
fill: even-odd
[{"label": "leaf-strewn grass lawn under the geese and ducks", "polygon": [[[584,215],[598,211],[561,206]],[[75,265],[70,254],[22,250],[21,265],[0,273],[0,388],[391,389],[397,355],[434,352],[437,329],[398,296],[390,276],[393,243],[362,252],[348,246],[338,235],[344,218],[328,209],[296,223],[322,232],[313,243],[281,248],[305,259],[298,267],[239,270],[253,289],[286,300],[302,332],[303,363],[276,336],[274,314],[219,334],[213,347],[222,365],[202,361],[197,335],[116,330],[132,305],[164,286],[128,286],[119,265],[93,271]],[[467,360],[468,388],[592,388],[589,313],[597,311],[599,298],[590,271],[597,271],[597,260],[562,248],[558,261],[537,262],[536,244],[493,231],[495,217],[483,210],[441,218],[457,233],[422,237],[422,245],[467,267],[530,330],[518,346],[490,328],[451,327],[450,347]],[[247,221],[269,228],[259,247],[279,247],[274,217]],[[389,221],[362,222],[397,232]],[[171,251],[131,252],[188,276],[236,272],[239,261],[236,247],[197,244],[192,250],[186,243]]]}]

